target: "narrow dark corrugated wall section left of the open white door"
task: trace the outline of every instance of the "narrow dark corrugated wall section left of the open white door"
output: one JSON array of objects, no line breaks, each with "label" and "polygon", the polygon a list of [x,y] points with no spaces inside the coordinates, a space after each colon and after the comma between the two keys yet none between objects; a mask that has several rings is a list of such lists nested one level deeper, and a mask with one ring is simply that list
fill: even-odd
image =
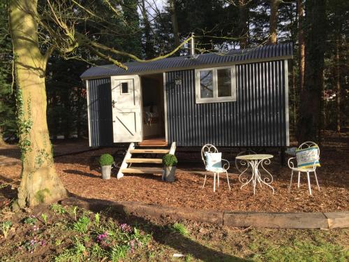
[{"label": "narrow dark corrugated wall section left of the open white door", "polygon": [[90,146],[112,145],[112,94],[110,78],[88,81]]}]

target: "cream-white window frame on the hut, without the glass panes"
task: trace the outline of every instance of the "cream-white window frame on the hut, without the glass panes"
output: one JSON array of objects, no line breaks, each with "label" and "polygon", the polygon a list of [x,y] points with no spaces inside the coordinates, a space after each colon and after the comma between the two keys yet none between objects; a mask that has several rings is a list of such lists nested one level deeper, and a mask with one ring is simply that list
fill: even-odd
[{"label": "cream-white window frame on the hut, without the glass panes", "polygon": [[[231,83],[231,96],[218,97],[218,77],[217,70],[230,68],[230,83]],[[212,84],[214,97],[208,97],[205,99],[200,98],[200,71],[212,71]],[[195,102],[196,103],[215,103],[215,102],[234,102],[237,101],[237,84],[236,84],[236,70],[233,66],[211,67],[195,69]]]}]

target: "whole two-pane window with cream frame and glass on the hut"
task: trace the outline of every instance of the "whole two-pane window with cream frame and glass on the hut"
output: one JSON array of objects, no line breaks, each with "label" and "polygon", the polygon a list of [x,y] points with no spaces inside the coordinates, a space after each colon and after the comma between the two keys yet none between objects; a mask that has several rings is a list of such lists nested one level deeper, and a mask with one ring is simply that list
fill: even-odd
[{"label": "whole two-pane window with cream frame and glass on the hut", "polygon": [[236,101],[235,66],[195,70],[196,103]]}]

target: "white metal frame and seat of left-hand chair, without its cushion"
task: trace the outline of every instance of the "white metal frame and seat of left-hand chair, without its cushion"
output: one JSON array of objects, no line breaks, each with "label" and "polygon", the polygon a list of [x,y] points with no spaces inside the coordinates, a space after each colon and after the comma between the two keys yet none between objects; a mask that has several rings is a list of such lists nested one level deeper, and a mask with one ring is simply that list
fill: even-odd
[{"label": "white metal frame and seat of left-hand chair, without its cushion", "polygon": [[[228,187],[230,190],[229,177],[228,177],[228,169],[230,168],[229,161],[226,159],[221,159],[222,162],[225,162],[221,168],[208,167],[207,161],[206,161],[206,153],[218,153],[218,150],[216,149],[216,147],[214,147],[214,145],[211,145],[211,144],[204,145],[202,147],[202,150],[201,150],[201,158],[205,164],[206,170],[214,173],[214,192],[216,191],[216,175],[217,175],[217,186],[219,187],[219,174],[220,173],[225,173],[227,175]],[[205,174],[205,180],[204,180],[204,184],[202,185],[202,188],[205,187],[206,176],[207,175]]]}]

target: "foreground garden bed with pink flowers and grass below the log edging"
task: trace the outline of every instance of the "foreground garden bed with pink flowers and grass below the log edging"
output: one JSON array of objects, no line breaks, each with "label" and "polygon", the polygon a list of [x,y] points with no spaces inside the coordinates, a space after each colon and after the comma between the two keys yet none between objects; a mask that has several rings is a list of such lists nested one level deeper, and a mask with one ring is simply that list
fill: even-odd
[{"label": "foreground garden bed with pink flowers and grass below the log edging", "polygon": [[7,207],[0,208],[0,226],[0,261],[349,259],[347,228],[331,231],[233,228],[130,217],[115,210],[96,214],[57,204],[16,213]]}]

